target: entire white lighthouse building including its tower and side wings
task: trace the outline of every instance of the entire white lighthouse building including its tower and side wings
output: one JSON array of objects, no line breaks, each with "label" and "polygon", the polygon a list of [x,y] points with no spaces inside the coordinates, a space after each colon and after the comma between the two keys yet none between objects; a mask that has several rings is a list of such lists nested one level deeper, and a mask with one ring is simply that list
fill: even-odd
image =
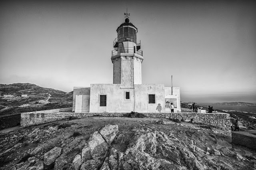
[{"label": "entire white lighthouse building including its tower and side wings", "polygon": [[126,18],[117,30],[111,61],[113,84],[91,84],[90,87],[74,87],[73,112],[174,112],[180,110],[180,88],[164,87],[164,84],[142,84],[143,61],[138,29]]}]

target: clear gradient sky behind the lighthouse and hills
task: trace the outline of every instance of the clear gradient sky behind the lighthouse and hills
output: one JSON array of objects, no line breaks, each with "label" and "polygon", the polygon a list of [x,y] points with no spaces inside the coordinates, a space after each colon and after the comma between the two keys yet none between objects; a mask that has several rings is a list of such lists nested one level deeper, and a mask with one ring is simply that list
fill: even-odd
[{"label": "clear gradient sky behind the lighthouse and hills", "polygon": [[125,20],[138,28],[142,84],[180,87],[181,101],[256,103],[256,1],[1,1],[0,84],[70,92],[113,83]]}]

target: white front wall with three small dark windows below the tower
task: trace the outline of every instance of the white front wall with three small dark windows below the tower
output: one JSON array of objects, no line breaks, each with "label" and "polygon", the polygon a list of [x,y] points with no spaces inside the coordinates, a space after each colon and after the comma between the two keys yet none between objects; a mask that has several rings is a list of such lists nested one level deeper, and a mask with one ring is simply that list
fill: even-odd
[{"label": "white front wall with three small dark windows below the tower", "polygon": [[[125,92],[130,99],[125,99]],[[134,101],[135,94],[135,101]],[[155,94],[155,103],[148,103],[148,94]],[[100,95],[107,95],[106,107],[100,107]],[[122,84],[91,84],[90,112],[158,112],[158,103],[164,108],[164,85],[144,84],[123,87]],[[135,103],[135,108],[134,108]]]}]

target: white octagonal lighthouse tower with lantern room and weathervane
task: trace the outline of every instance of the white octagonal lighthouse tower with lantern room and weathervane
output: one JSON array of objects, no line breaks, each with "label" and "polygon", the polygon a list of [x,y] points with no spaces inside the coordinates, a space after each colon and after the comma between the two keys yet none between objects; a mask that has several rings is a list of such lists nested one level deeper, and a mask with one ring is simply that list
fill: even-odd
[{"label": "white octagonal lighthouse tower with lantern room and weathervane", "polygon": [[140,43],[137,43],[138,29],[129,21],[126,13],[125,22],[116,30],[117,38],[113,42],[113,84],[133,87],[141,84],[141,63],[143,61]]}]

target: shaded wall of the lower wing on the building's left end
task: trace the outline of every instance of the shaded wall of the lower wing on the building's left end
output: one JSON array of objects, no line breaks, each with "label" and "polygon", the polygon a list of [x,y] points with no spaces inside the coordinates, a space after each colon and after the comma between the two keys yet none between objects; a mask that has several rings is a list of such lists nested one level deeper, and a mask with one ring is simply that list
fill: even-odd
[{"label": "shaded wall of the lower wing on the building's left end", "polygon": [[[79,97],[79,95],[81,96]],[[77,101],[76,103],[76,99],[79,99],[80,101]],[[75,112],[76,110],[77,112],[89,111],[90,108],[88,108],[88,103],[90,103],[90,87],[74,87],[72,112]]]}]

